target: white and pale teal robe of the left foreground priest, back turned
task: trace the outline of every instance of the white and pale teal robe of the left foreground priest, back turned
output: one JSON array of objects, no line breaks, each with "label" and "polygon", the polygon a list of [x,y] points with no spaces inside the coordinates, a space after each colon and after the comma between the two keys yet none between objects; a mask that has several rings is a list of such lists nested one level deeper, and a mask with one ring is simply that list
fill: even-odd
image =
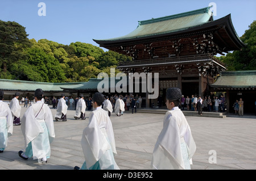
[{"label": "white and pale teal robe of the left foreground priest, back turned", "polygon": [[52,112],[47,104],[41,101],[32,104],[24,113],[21,121],[27,157],[49,158],[50,144],[55,138],[55,131]]}]

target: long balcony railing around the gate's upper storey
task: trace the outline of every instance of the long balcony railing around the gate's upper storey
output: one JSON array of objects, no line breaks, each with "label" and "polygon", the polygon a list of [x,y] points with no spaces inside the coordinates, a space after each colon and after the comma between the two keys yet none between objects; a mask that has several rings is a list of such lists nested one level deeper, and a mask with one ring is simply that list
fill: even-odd
[{"label": "long balcony railing around the gate's upper storey", "polygon": [[184,62],[184,61],[200,61],[200,60],[214,60],[218,64],[225,66],[221,61],[217,58],[213,57],[211,54],[196,54],[192,56],[181,56],[181,57],[167,57],[167,58],[152,58],[147,60],[133,60],[130,62],[120,62],[118,68],[126,67],[126,66],[139,66],[139,65],[150,65],[150,64],[163,64],[163,63],[172,63],[172,62]]}]

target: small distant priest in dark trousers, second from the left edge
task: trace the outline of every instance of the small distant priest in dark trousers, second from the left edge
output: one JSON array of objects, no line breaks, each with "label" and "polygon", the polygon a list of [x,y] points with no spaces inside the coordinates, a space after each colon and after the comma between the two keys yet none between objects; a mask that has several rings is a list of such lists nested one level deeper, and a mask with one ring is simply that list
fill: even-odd
[{"label": "small distant priest in dark trousers, second from the left edge", "polygon": [[20,111],[21,107],[19,106],[19,92],[15,92],[14,98],[11,100],[9,107],[11,110],[11,113],[13,113],[13,124],[14,125],[20,125]]}]

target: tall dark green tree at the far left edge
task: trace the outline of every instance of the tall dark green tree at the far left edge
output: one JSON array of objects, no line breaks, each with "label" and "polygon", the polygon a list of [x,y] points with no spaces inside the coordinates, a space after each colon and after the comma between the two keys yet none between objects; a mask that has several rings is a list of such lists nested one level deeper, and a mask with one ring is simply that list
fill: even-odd
[{"label": "tall dark green tree at the far left edge", "polygon": [[23,50],[31,46],[27,32],[16,22],[0,20],[0,77],[7,78],[8,68],[15,61],[26,57]]}]

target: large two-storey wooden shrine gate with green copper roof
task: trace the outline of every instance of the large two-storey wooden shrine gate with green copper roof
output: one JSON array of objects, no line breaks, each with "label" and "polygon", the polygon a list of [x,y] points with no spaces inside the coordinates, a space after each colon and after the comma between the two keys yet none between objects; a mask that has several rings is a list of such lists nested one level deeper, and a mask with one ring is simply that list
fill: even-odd
[{"label": "large two-storey wooden shrine gate with green copper roof", "polygon": [[[213,20],[210,7],[142,20],[125,36],[94,41],[100,47],[133,58],[118,66],[126,74],[159,73],[163,103],[169,87],[179,87],[189,98],[209,95],[209,85],[226,70],[214,56],[245,46],[234,30],[231,15]],[[139,94],[145,97],[147,92]],[[150,107],[151,101],[146,99],[146,107]]]}]

